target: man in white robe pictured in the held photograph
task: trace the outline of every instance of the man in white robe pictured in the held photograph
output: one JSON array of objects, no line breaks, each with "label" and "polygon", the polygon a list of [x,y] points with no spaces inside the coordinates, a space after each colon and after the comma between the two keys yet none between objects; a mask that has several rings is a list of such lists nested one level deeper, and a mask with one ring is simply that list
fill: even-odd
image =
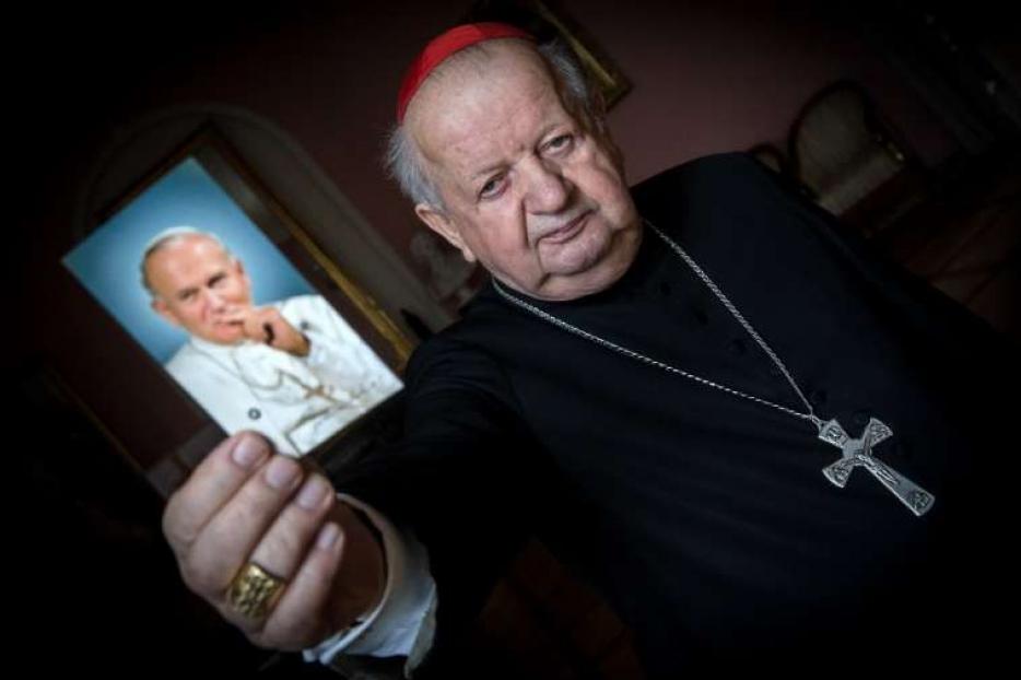
[{"label": "man in white robe pictured in the held photograph", "polygon": [[227,433],[305,454],[401,388],[319,295],[255,306],[244,265],[213,234],[165,230],[141,270],[152,308],[189,335],[166,370]]}]

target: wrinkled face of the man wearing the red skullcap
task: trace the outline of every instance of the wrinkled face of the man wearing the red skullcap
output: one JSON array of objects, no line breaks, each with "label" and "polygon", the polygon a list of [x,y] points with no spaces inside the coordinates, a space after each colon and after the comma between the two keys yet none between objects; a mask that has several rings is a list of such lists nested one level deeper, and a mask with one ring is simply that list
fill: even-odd
[{"label": "wrinkled face of the man wearing the red skullcap", "polygon": [[404,122],[445,203],[415,212],[501,282],[572,300],[634,259],[641,222],[612,142],[564,109],[521,40],[492,40],[484,55],[441,67]]}]

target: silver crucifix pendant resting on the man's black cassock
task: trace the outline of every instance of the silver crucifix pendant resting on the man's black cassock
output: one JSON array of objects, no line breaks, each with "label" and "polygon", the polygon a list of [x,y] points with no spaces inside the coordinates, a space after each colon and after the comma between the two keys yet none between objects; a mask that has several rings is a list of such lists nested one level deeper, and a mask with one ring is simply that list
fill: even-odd
[{"label": "silver crucifix pendant resting on the man's black cassock", "polygon": [[889,489],[911,512],[920,517],[929,512],[936,497],[872,456],[872,447],[892,436],[893,430],[875,418],[869,420],[865,432],[857,439],[852,439],[836,420],[823,423],[819,429],[819,438],[838,447],[844,455],[836,462],[823,468],[822,473],[843,489],[854,469],[861,466],[882,482],[882,485]]}]

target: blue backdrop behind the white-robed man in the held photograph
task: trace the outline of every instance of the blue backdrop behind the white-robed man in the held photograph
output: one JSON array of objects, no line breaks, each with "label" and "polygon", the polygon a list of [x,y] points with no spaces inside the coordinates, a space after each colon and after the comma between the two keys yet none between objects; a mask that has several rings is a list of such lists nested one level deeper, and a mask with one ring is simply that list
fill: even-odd
[{"label": "blue backdrop behind the white-robed man in the held photograph", "polygon": [[168,172],[63,258],[79,281],[161,364],[187,339],[149,306],[142,254],[171,226],[213,232],[245,265],[255,304],[315,293],[193,157]]}]

